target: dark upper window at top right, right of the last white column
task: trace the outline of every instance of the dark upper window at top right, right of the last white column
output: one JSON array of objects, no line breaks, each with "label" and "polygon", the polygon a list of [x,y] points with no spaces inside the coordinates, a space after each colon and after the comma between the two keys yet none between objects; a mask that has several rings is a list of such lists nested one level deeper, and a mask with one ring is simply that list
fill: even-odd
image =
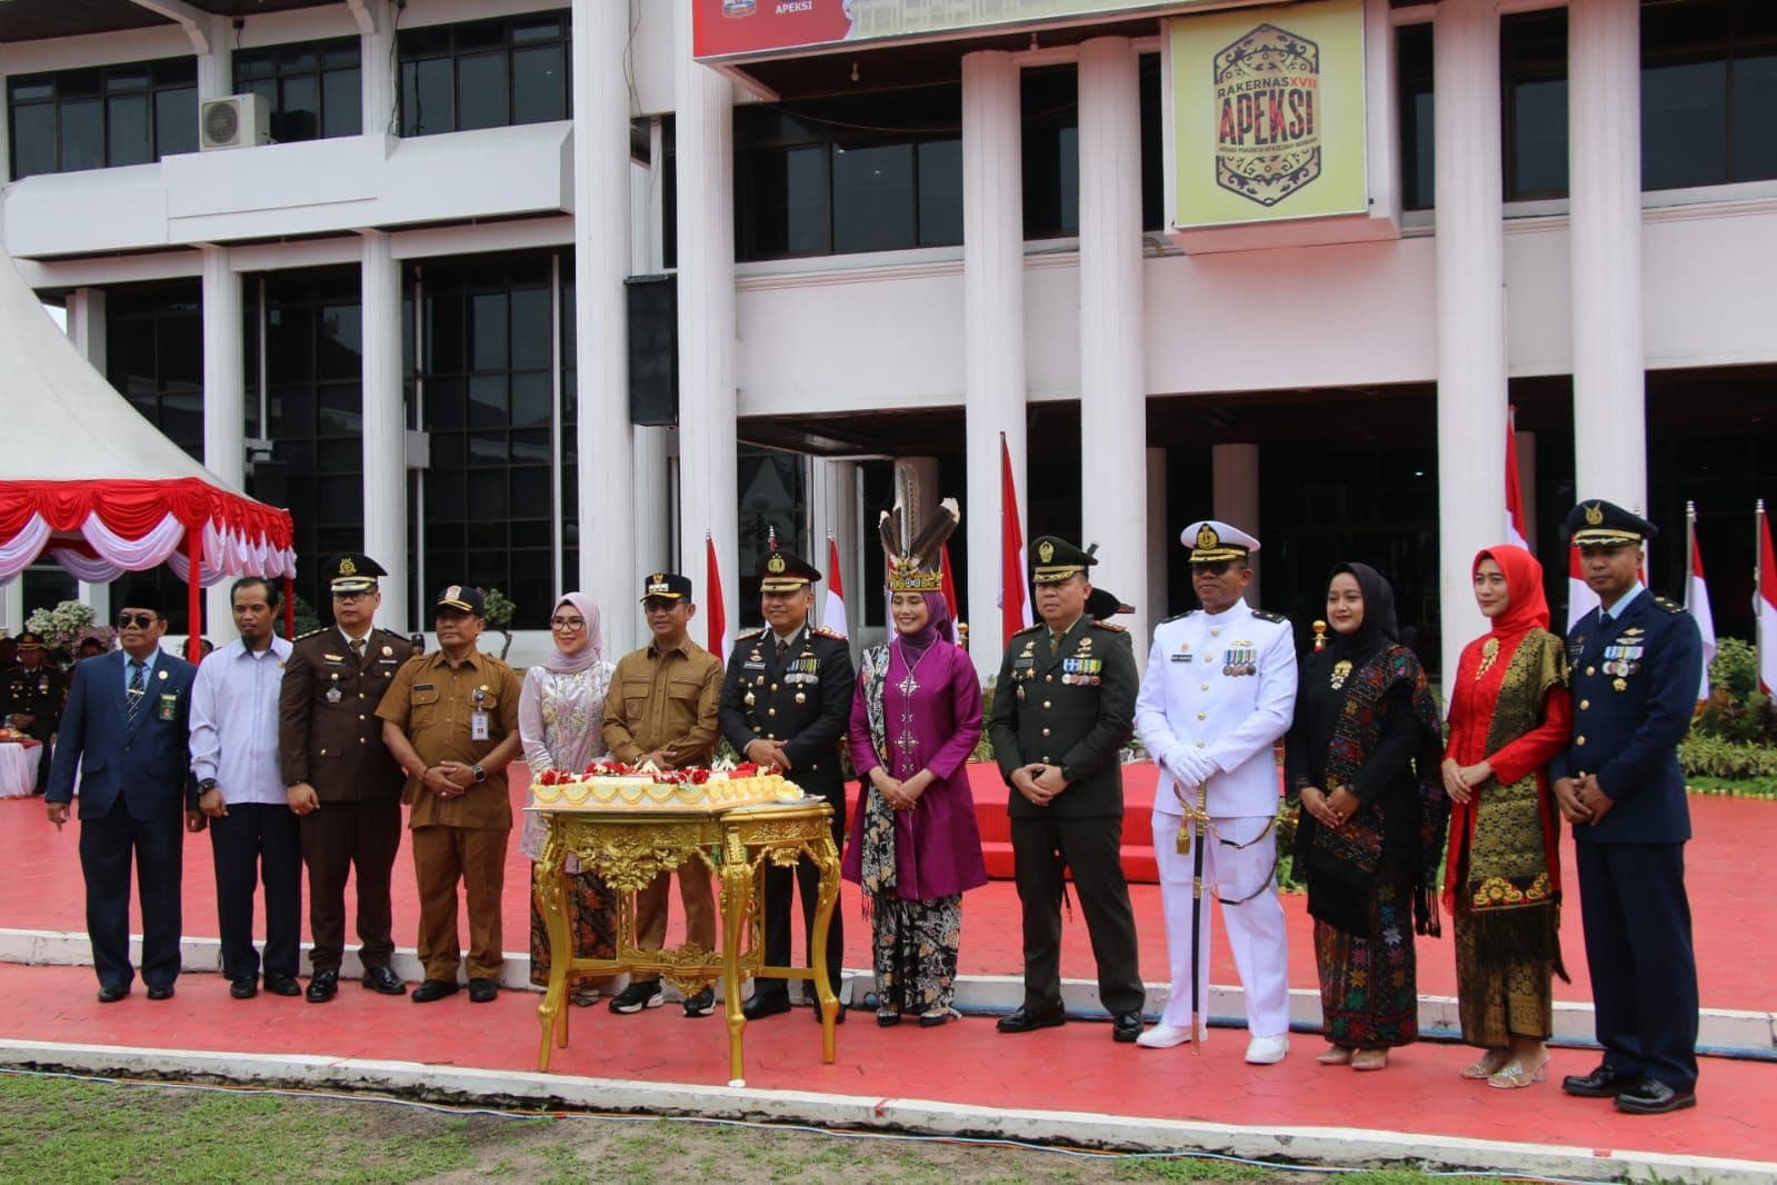
[{"label": "dark upper window at top right, right of the last white column", "polygon": [[1777,178],[1770,0],[1642,7],[1642,188]]}]

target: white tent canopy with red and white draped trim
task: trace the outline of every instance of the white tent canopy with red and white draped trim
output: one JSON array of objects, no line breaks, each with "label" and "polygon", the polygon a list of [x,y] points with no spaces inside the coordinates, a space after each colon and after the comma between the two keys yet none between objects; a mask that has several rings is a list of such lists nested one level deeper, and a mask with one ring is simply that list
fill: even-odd
[{"label": "white tent canopy with red and white draped trim", "polygon": [[44,553],[92,583],[167,563],[194,604],[199,586],[233,576],[295,576],[290,512],[231,489],[162,435],[44,314],[11,256],[0,259],[0,583]]}]

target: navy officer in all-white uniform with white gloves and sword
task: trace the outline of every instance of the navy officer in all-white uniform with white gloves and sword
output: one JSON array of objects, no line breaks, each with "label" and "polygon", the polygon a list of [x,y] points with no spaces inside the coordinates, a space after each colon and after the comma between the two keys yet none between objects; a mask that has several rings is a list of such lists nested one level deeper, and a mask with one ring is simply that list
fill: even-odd
[{"label": "navy officer in all-white uniform with white gloves and sword", "polygon": [[[1265,1066],[1290,1048],[1288,933],[1278,901],[1278,764],[1272,748],[1295,714],[1295,638],[1290,622],[1246,604],[1258,540],[1214,519],[1180,537],[1191,586],[1203,602],[1153,627],[1148,673],[1136,698],[1136,732],[1160,766],[1153,796],[1153,855],[1160,867],[1173,995],[1144,1048],[1191,1041],[1191,977],[1208,1007],[1210,897],[1221,901],[1228,945],[1246,988],[1246,1061]],[[1207,791],[1208,844],[1192,958],[1194,853],[1180,851],[1187,810]],[[1192,844],[1201,823],[1189,824]]]}]

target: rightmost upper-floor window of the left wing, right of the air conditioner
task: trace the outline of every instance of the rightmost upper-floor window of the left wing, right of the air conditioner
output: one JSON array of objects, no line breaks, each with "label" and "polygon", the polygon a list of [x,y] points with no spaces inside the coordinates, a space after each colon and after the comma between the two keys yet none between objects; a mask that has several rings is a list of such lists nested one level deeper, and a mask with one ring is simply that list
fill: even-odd
[{"label": "rightmost upper-floor window of the left wing, right of the air conditioner", "polygon": [[405,30],[400,60],[402,135],[569,115],[565,12]]}]

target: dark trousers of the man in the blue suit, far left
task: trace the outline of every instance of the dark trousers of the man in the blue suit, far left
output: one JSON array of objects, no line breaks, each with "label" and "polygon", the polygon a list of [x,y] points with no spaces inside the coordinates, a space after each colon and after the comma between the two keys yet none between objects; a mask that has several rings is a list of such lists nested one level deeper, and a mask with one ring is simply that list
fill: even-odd
[{"label": "dark trousers of the man in the blue suit, far left", "polygon": [[87,934],[100,984],[128,988],[130,863],[142,899],[142,981],[171,988],[179,977],[179,878],[185,871],[185,815],[135,819],[123,794],[103,819],[80,821],[80,872],[87,881]]}]

